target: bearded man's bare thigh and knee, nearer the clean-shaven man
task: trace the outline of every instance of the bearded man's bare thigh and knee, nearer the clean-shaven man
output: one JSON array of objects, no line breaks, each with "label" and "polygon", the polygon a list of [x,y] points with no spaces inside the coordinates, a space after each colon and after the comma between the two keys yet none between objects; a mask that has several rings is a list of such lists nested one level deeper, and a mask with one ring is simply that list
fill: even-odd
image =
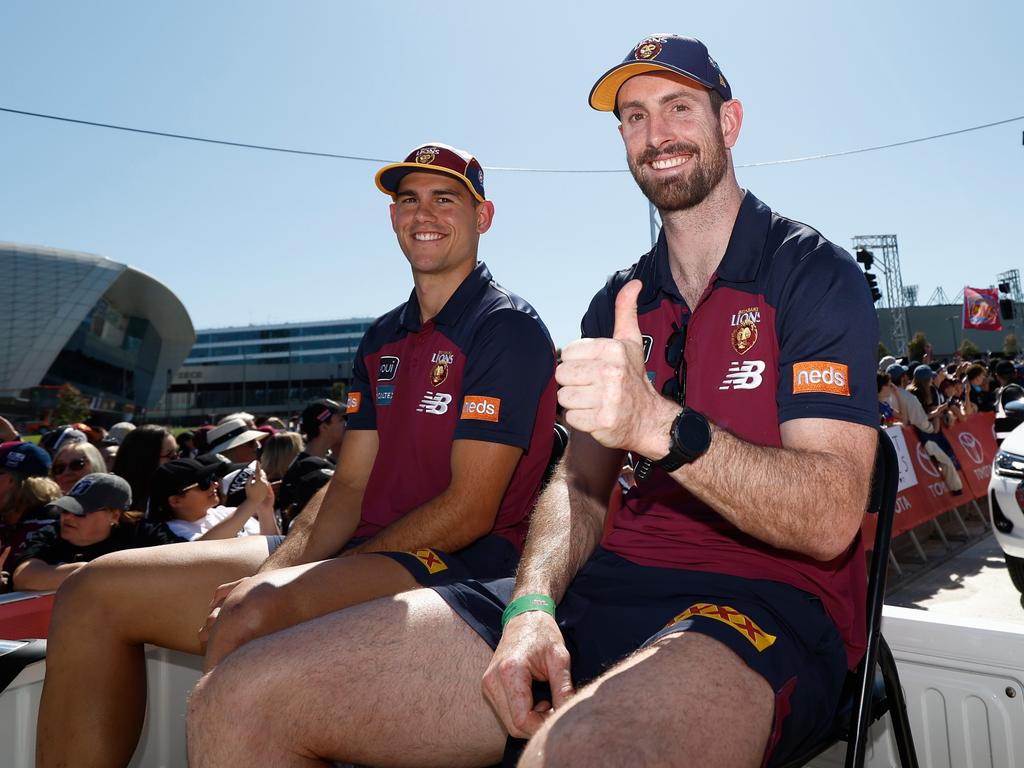
[{"label": "bearded man's bare thigh and knee, nearer the clean-shaven man", "polygon": [[188,764],[496,763],[505,732],[480,688],[490,655],[431,590],[254,640],[193,693]]}]

